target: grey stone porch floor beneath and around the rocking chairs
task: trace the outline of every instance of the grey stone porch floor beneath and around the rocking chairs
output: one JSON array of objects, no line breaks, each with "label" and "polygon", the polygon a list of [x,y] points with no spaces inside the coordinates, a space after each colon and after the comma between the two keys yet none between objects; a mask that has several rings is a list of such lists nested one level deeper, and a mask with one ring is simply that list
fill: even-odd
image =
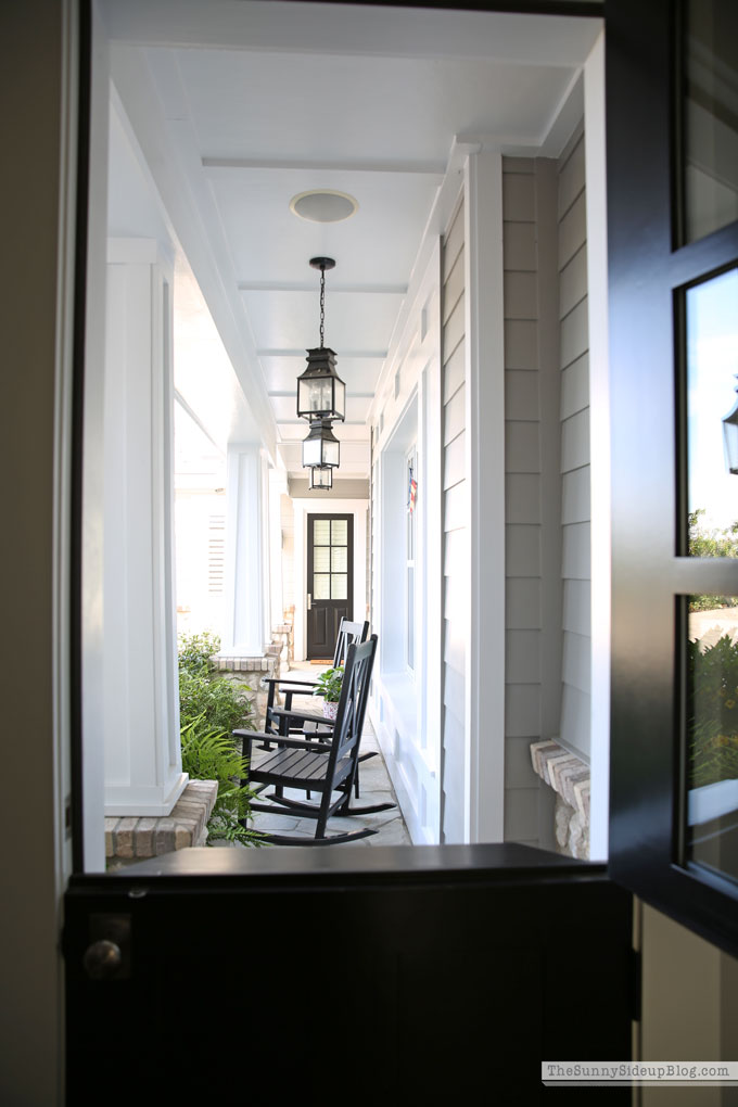
[{"label": "grey stone porch floor beneath and around the rocking chairs", "polygon": [[[314,680],[328,668],[329,665],[312,665],[309,662],[297,661],[292,662],[289,672],[294,673],[295,680]],[[320,711],[322,703],[322,700],[311,696],[310,710]],[[368,720],[364,723],[364,734],[362,735],[361,748],[362,754],[368,753],[370,751],[376,751],[376,756],[361,765],[361,795],[358,800],[354,799],[354,801],[360,806],[368,806],[387,801],[397,804],[397,797],[395,796],[392,787],[392,782],[389,780],[389,775],[387,773],[380,745]],[[268,756],[266,752],[260,749],[254,751],[254,763],[258,764],[259,759],[266,756]],[[291,793],[288,788],[285,795],[289,796],[291,794],[299,799],[305,798],[304,793]],[[254,830],[269,830],[272,834],[289,834],[300,838],[312,838],[315,834],[314,819],[298,818],[293,815],[272,815],[271,813],[268,814],[266,811],[257,811],[253,816],[252,825]],[[337,818],[334,816],[329,820],[328,830],[329,834],[340,834],[344,830],[360,830],[362,827],[371,827],[374,830],[378,830],[378,834],[372,835],[370,838],[361,838],[358,841],[352,842],[354,846],[413,845],[410,836],[407,832],[407,827],[405,826],[402,811],[399,810],[399,806],[396,806],[388,811],[377,811],[374,815],[353,815],[347,818]],[[285,846],[282,848],[297,849],[299,847]],[[339,849],[340,847],[336,846],[334,848]]]}]

